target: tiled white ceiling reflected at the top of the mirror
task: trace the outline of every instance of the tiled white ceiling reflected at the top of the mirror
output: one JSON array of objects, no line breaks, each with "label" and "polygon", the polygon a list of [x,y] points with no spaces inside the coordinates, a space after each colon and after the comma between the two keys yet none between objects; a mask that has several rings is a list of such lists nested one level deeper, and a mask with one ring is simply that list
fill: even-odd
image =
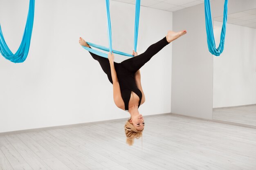
[{"label": "tiled white ceiling reflected at the top of the mirror", "polygon": [[[223,15],[216,17],[213,20],[223,22]],[[227,15],[227,23],[256,29],[256,9],[231,13]]]}]

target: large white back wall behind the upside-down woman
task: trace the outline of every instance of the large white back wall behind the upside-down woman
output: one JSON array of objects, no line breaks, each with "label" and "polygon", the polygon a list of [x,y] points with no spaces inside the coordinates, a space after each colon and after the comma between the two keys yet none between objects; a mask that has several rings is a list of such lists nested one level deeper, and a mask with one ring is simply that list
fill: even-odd
[{"label": "large white back wall behind the upside-down woman", "polygon": [[[29,0],[1,0],[5,40],[16,51]],[[110,1],[114,49],[131,53],[135,6]],[[138,53],[172,29],[172,13],[141,7]],[[117,108],[112,84],[79,37],[108,46],[106,4],[102,0],[36,0],[27,60],[0,57],[0,132],[129,117]],[[116,62],[125,57],[115,56]],[[171,112],[171,45],[141,68],[146,102],[143,115]]]}]

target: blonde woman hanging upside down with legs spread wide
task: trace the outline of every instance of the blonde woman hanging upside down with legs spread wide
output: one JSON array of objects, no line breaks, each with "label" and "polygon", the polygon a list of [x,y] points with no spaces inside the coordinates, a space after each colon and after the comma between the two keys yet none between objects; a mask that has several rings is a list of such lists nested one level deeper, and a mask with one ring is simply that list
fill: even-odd
[{"label": "blonde woman hanging upside down with legs spread wide", "polygon": [[[151,57],[158,53],[164,46],[186,34],[186,31],[173,32],[168,31],[167,35],[160,41],[152,44],[148,49],[137,55],[133,51],[132,55],[136,57],[124,60],[121,63],[114,62],[114,54],[108,53],[108,59],[89,52],[92,57],[99,62],[103,71],[107,74],[109,81],[113,84],[114,102],[118,108],[130,113],[130,119],[126,122],[124,129],[126,133],[126,143],[132,145],[134,138],[142,136],[145,123],[143,116],[139,114],[139,106],[144,104],[145,95],[143,93],[140,72],[141,68]],[[80,38],[79,43],[82,46],[90,46]]]}]

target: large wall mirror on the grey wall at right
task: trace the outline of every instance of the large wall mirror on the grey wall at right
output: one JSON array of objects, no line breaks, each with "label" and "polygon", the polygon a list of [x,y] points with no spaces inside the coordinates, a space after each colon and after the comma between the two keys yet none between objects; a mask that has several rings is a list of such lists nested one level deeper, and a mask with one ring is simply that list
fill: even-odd
[{"label": "large wall mirror on the grey wall at right", "polygon": [[[218,46],[223,16],[213,20]],[[256,9],[229,14],[226,28],[213,57],[213,119],[256,126]]]}]

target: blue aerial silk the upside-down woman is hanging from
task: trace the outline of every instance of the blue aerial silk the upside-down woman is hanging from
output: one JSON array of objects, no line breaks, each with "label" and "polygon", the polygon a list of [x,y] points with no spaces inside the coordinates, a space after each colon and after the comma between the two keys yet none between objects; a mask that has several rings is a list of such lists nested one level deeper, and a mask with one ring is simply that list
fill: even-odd
[{"label": "blue aerial silk the upside-down woman is hanging from", "polygon": [[[109,10],[109,0],[106,0],[106,7],[107,7],[107,17],[108,17],[108,44],[109,47],[100,46],[97,44],[93,44],[90,42],[87,42],[90,46],[93,46],[97,49],[101,49],[103,51],[113,51],[113,53],[125,55],[129,57],[133,57],[131,54],[123,53],[121,51],[113,50],[112,49],[112,33],[111,33],[111,22],[110,22],[110,10]],[[137,51],[137,42],[138,42],[138,30],[139,30],[139,9],[140,9],[140,0],[136,0],[136,9],[135,9],[135,29],[134,29],[134,51]],[[91,53],[94,53],[96,55],[99,55],[101,57],[108,58],[108,54],[102,53],[100,51],[88,48],[86,46],[82,46],[84,49],[90,51]]]}]

